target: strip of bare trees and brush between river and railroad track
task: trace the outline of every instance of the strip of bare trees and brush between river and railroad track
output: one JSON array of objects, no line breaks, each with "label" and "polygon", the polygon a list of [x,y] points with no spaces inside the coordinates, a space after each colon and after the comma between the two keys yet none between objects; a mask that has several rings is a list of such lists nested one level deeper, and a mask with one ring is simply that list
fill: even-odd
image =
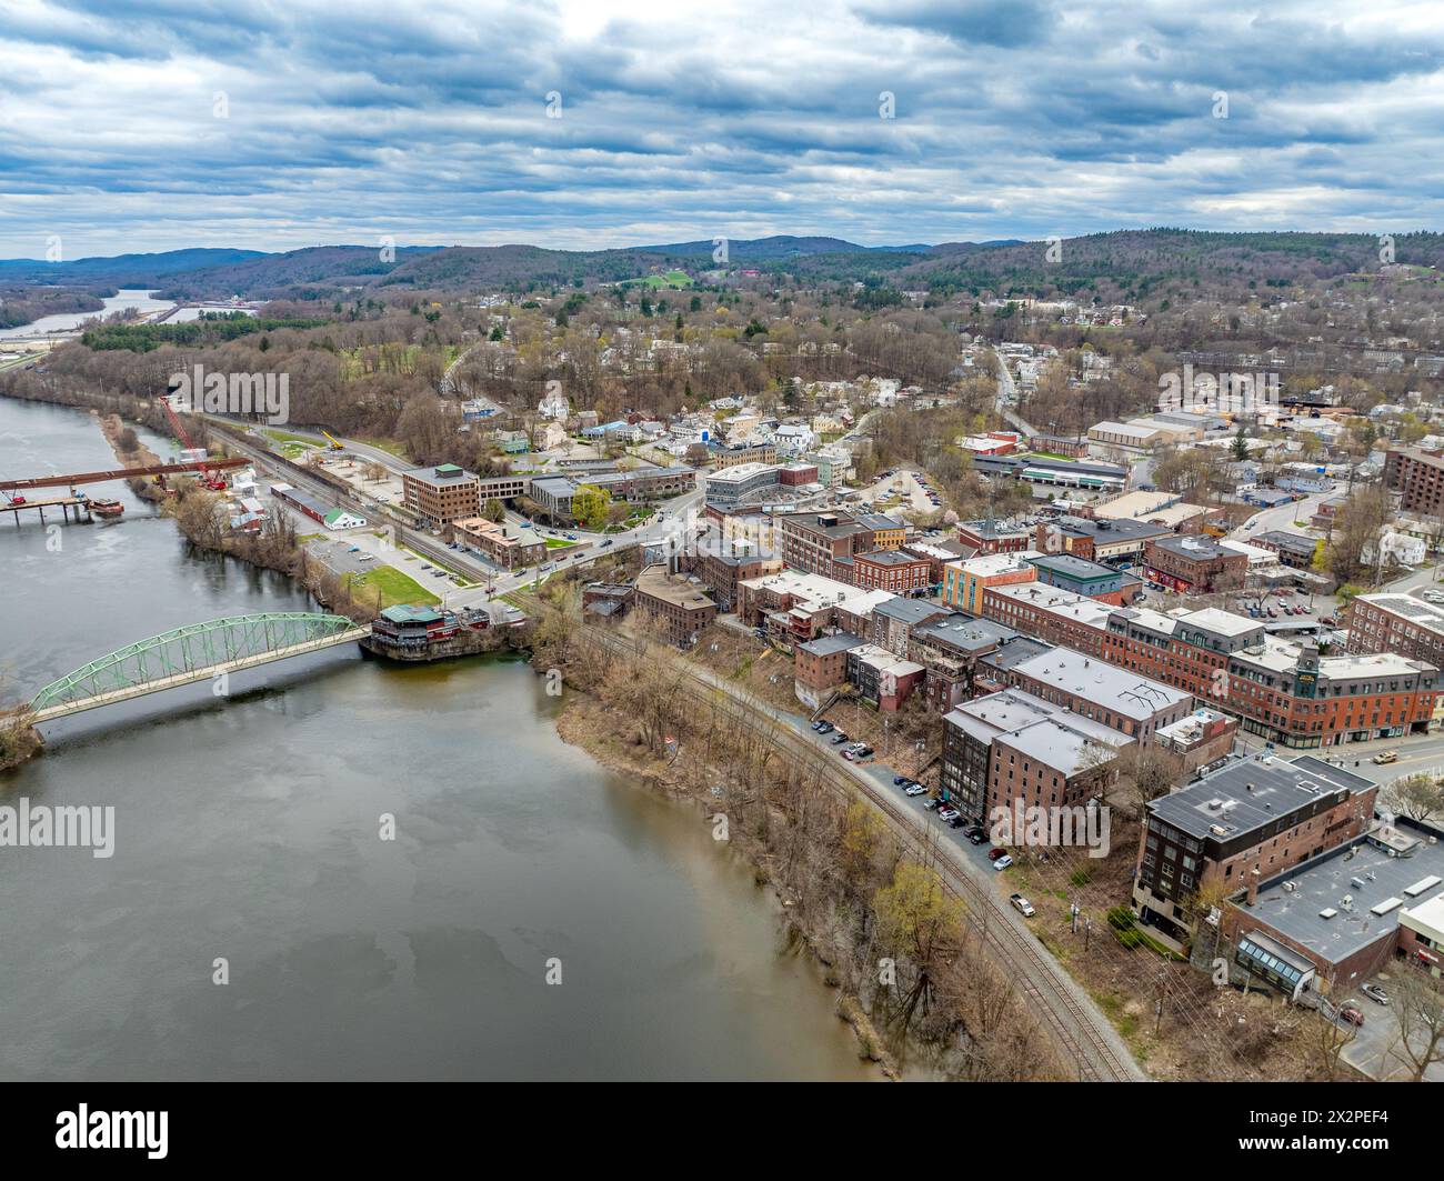
[{"label": "strip of bare trees and brush between river and railroad track", "polygon": [[775,894],[788,937],[826,967],[864,1057],[888,1077],[1071,1077],[928,849],[904,846],[868,803],[794,762],[767,726],[739,722],[725,694],[680,692],[676,654],[624,655],[580,628],[557,611],[537,624],[533,664],[560,668],[567,686],[559,733],[703,809],[713,837]]}]

